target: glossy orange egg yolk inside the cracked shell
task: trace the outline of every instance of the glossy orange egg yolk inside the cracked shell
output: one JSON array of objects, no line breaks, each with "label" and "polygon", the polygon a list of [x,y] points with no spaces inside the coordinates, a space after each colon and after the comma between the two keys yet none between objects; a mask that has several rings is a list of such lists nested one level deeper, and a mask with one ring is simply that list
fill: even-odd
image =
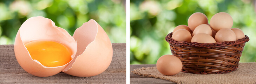
[{"label": "glossy orange egg yolk inside the cracked shell", "polygon": [[33,41],[25,44],[32,59],[44,66],[62,66],[71,61],[71,51],[63,44],[53,41]]}]

